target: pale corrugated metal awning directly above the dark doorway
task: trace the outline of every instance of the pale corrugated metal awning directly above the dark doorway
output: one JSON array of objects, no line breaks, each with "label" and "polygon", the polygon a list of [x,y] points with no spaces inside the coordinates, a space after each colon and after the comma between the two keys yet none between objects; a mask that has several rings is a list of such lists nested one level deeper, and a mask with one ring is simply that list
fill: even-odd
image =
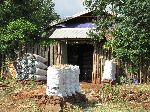
[{"label": "pale corrugated metal awning directly above the dark doorway", "polygon": [[90,38],[87,33],[91,28],[61,28],[56,29],[49,37],[51,39],[64,39],[64,38]]}]

